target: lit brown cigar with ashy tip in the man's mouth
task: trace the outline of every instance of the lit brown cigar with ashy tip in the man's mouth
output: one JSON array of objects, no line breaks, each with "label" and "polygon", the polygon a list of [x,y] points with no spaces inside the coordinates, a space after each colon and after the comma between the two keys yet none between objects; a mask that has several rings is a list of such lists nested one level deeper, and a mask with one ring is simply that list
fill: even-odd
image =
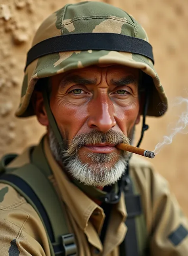
[{"label": "lit brown cigar with ashy tip in the man's mouth", "polygon": [[117,145],[116,147],[121,150],[132,152],[134,154],[139,154],[140,156],[146,156],[149,158],[155,157],[155,154],[152,151],[133,147],[128,144],[121,143],[121,144]]}]

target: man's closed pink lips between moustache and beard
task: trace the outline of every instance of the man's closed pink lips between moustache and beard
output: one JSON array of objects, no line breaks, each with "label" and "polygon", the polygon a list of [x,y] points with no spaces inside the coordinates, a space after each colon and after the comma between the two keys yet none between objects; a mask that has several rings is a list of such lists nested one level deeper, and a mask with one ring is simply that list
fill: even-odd
[{"label": "man's closed pink lips between moustache and beard", "polygon": [[84,147],[93,153],[102,153],[102,154],[111,153],[117,150],[114,144],[109,144],[109,143],[97,143],[94,145],[87,144],[87,145],[84,145]]}]

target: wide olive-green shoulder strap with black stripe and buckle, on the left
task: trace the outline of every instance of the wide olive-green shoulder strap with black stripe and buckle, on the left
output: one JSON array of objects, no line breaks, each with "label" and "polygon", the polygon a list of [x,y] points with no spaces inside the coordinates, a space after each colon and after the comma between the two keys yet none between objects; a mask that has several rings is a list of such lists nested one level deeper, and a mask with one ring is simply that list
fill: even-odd
[{"label": "wide olive-green shoulder strap with black stripe and buckle, on the left", "polygon": [[29,163],[6,170],[0,182],[13,186],[34,207],[46,229],[51,256],[76,255],[74,235],[68,232],[59,198],[39,168]]}]

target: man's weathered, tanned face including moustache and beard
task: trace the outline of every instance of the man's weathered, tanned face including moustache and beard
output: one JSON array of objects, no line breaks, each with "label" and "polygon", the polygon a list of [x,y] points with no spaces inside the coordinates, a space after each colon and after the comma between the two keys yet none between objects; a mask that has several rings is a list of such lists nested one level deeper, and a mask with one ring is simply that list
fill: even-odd
[{"label": "man's weathered, tanned face including moustache and beard", "polygon": [[[138,69],[121,65],[90,66],[50,78],[50,107],[65,146],[62,157],[74,178],[105,186],[123,174],[128,156],[115,145],[129,143],[139,122],[138,80]],[[95,182],[86,181],[88,173]]]}]

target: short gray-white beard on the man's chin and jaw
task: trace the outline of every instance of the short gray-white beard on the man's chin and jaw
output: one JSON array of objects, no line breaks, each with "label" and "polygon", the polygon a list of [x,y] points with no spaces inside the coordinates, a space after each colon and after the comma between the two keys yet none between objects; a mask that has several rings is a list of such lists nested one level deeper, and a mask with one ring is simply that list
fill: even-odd
[{"label": "short gray-white beard on the man's chin and jaw", "polygon": [[[134,129],[131,133],[131,142],[133,136]],[[62,143],[63,147],[66,148],[64,139]],[[115,184],[125,173],[127,163],[131,156],[131,153],[122,151],[117,162],[110,165],[110,162],[117,157],[116,153],[101,154],[91,152],[86,154],[86,157],[92,160],[92,163],[83,163],[79,159],[77,152],[68,154],[67,150],[61,150],[51,127],[49,127],[49,145],[56,161],[63,166],[65,171],[71,174],[73,179],[78,180],[87,186],[94,187],[104,187]]]}]

